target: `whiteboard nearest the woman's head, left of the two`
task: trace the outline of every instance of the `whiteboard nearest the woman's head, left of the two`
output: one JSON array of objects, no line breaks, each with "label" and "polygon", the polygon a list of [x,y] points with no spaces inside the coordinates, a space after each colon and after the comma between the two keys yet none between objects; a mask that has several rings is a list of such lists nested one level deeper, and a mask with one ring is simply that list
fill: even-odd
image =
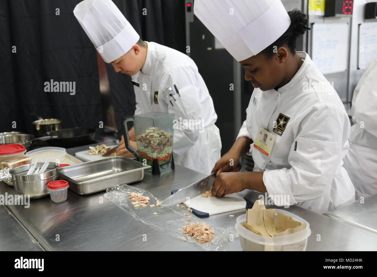
[{"label": "whiteboard nearest the woman's head, left of the two", "polygon": [[348,64],[348,23],[314,23],[312,60],[322,74],[344,72]]}]

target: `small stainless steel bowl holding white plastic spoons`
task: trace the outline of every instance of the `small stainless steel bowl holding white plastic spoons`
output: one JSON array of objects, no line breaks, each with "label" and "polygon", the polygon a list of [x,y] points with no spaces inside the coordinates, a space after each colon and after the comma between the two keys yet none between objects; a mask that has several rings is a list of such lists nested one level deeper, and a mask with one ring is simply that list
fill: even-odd
[{"label": "small stainless steel bowl holding white plastic spoons", "polygon": [[[37,162],[35,168],[42,167],[44,162]],[[30,195],[31,199],[41,198],[50,194],[47,190],[47,183],[58,180],[58,165],[49,162],[47,169],[43,173],[30,174],[28,170],[33,164],[25,164],[13,168],[9,171],[12,175],[12,182],[15,190],[20,194]]]}]

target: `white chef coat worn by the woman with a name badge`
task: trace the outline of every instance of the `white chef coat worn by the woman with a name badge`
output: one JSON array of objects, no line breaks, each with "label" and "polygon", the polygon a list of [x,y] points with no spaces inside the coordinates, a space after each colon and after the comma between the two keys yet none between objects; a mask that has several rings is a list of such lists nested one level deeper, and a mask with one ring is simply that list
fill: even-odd
[{"label": "white chef coat worn by the woman with a name badge", "polygon": [[[297,54],[304,61],[288,84],[277,91],[254,89],[238,137],[255,141],[261,124],[267,126],[276,141],[270,157],[254,148],[254,143],[250,145],[253,171],[264,171],[269,196],[289,196],[290,205],[322,214],[355,199],[352,182],[342,167],[350,123],[333,87],[318,89],[325,88],[328,81],[309,55]],[[280,124],[280,113],[287,121],[281,136],[273,132],[274,121]]]}]

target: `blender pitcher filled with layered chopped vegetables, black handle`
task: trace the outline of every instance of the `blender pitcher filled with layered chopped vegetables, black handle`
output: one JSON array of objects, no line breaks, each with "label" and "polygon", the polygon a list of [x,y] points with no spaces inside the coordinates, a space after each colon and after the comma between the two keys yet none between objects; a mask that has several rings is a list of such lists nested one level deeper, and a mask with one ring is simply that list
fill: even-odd
[{"label": "blender pitcher filled with layered chopped vegetables, black handle", "polygon": [[[152,166],[152,174],[159,174],[160,168],[166,169],[172,161],[173,151],[173,113],[150,112],[141,115],[126,116],[122,120],[124,143],[127,150],[136,156],[139,162]],[[127,122],[133,121],[136,145],[130,145]]]}]

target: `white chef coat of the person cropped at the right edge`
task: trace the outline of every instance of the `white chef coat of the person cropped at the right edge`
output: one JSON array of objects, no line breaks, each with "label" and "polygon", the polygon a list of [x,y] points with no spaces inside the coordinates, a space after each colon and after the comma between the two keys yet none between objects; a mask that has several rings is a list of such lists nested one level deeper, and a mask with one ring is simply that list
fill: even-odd
[{"label": "white chef coat of the person cropped at the right edge", "polygon": [[352,97],[349,152],[344,157],[357,198],[377,193],[377,58],[369,64]]}]

